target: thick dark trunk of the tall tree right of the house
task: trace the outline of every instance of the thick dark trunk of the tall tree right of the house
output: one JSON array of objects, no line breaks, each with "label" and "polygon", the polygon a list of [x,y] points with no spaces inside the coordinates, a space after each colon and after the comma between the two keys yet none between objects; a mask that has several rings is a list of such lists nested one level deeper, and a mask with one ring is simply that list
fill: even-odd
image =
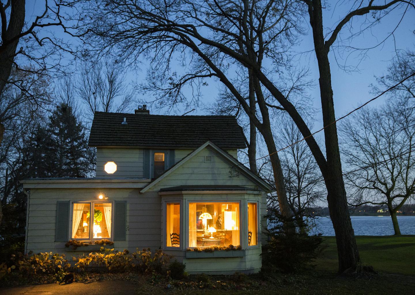
[{"label": "thick dark trunk of the tall tree right of the house", "polygon": [[312,11],[309,12],[320,73],[319,83],[323,126],[327,126],[324,129],[327,158],[327,175],[325,177],[327,203],[336,234],[339,273],[343,273],[349,268],[356,268],[360,258],[356,238],[354,237],[352,221],[350,220],[349,208],[347,206],[346,191],[344,189],[337,127],[336,123],[333,123],[336,118],[334,114],[333,91],[328,58],[329,50],[325,47],[323,35],[321,1],[314,0],[312,2]]}]

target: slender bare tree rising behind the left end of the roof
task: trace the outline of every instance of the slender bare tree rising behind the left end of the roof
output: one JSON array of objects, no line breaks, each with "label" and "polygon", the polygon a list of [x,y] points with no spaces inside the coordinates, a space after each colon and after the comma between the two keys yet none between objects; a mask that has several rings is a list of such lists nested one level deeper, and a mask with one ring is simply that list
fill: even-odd
[{"label": "slender bare tree rising behind the left end of the roof", "polygon": [[89,121],[96,111],[130,111],[135,99],[134,92],[127,88],[124,67],[118,63],[99,60],[85,63],[75,87],[87,107]]}]

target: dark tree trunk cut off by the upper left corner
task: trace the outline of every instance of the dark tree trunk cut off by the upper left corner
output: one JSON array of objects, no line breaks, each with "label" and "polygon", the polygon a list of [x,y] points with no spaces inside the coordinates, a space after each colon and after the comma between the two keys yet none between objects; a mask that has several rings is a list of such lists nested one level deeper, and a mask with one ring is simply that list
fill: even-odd
[{"label": "dark tree trunk cut off by the upper left corner", "polygon": [[[1,5],[3,6],[2,3]],[[19,38],[13,39],[22,32],[24,25],[25,1],[12,0],[10,5],[10,20],[7,30],[2,32],[2,45],[0,46],[0,95],[9,80],[13,60],[16,55],[17,44],[19,43]],[[0,9],[3,10],[3,7]],[[5,15],[2,15],[1,18],[2,21],[7,22]]]}]

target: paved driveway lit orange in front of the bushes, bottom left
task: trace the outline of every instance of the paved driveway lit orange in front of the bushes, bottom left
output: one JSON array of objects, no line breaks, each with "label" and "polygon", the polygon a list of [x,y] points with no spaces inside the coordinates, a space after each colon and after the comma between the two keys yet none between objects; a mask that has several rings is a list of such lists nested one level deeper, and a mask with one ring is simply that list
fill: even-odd
[{"label": "paved driveway lit orange in front of the bushes, bottom left", "polygon": [[103,280],[68,285],[46,284],[27,287],[1,288],[2,295],[136,295],[139,283],[127,280]]}]

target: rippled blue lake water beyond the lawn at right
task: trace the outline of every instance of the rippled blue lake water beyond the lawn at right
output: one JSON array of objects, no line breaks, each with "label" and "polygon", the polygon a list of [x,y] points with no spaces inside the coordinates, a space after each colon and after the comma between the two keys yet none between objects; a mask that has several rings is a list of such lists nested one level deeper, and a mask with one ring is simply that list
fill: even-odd
[{"label": "rippled blue lake water beyond the lawn at right", "polygon": [[[351,216],[354,234],[356,236],[388,236],[393,235],[393,225],[390,216]],[[400,233],[415,235],[415,216],[398,216]],[[317,227],[313,233],[323,236],[334,236],[330,217],[320,217],[316,220]]]}]

